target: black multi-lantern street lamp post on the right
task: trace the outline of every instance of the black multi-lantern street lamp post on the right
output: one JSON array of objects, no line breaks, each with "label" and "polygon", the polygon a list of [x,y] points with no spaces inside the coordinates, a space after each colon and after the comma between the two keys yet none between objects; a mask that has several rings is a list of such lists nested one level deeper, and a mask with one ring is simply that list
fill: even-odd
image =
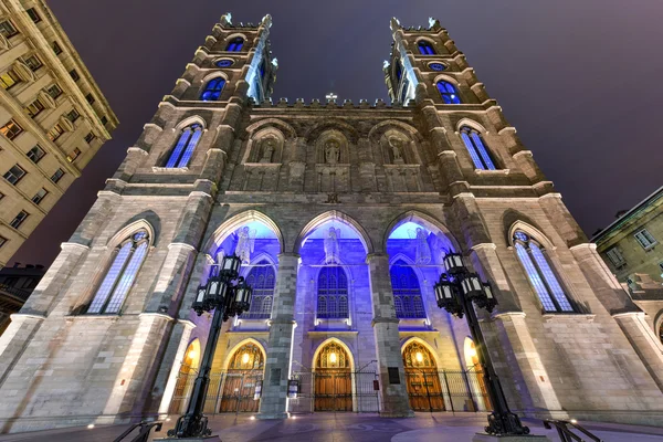
[{"label": "black multi-lantern street lamp post on the right", "polygon": [[446,272],[440,275],[440,282],[435,284],[435,298],[440,308],[444,308],[459,318],[462,318],[463,315],[467,318],[478,361],[487,378],[488,397],[494,409],[488,414],[486,433],[495,435],[529,434],[529,428],[524,427],[520,419],[508,409],[472,305],[474,303],[477,307],[488,312],[495,308],[497,301],[493,297],[491,284],[482,283],[476,273],[470,273],[459,253],[450,253],[444,257],[444,269]]}]

